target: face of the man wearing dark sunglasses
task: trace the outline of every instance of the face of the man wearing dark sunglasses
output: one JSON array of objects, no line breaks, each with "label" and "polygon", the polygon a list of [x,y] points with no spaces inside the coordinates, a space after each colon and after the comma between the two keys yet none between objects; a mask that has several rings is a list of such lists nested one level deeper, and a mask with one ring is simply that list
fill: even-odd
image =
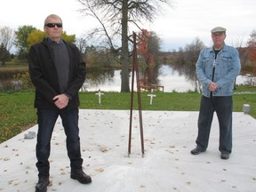
[{"label": "face of the man wearing dark sunglasses", "polygon": [[44,32],[52,40],[59,42],[62,34],[62,22],[57,18],[49,18],[44,25]]}]

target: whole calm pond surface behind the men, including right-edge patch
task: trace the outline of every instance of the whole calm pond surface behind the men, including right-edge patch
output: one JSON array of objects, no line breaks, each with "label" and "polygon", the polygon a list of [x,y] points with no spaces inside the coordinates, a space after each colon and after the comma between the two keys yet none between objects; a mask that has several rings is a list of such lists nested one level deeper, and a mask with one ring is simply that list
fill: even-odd
[{"label": "whole calm pond surface behind the men, including right-edge patch", "polygon": [[[145,72],[140,72],[140,80],[144,78],[144,74]],[[131,75],[132,73],[130,73]],[[196,71],[194,66],[161,65],[154,72],[154,75],[152,81],[154,81],[154,84],[163,85],[164,92],[188,92],[196,90]],[[132,84],[131,81],[132,78],[130,78],[130,87]],[[240,75],[236,78],[236,84],[256,85],[256,76]],[[98,74],[88,73],[83,91],[96,92],[99,89],[102,92],[120,92],[121,70],[104,71],[104,73],[98,72]]]}]

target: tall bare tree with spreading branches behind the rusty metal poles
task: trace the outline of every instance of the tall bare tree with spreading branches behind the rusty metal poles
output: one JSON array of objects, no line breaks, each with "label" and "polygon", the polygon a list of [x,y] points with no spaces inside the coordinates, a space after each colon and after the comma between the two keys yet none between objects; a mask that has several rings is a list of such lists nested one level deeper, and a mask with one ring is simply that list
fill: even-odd
[{"label": "tall bare tree with spreading branches behind the rusty metal poles", "polygon": [[[171,5],[172,0],[78,0],[83,5],[80,12],[90,15],[100,23],[100,28],[94,30],[107,37],[112,52],[120,53],[122,65],[121,92],[130,92],[129,87],[129,28],[128,23],[140,26],[142,20],[153,21],[164,5]],[[120,39],[121,47],[114,42]],[[116,38],[115,38],[116,37]],[[118,44],[118,43],[116,43]],[[120,43],[119,43],[120,44]]]}]

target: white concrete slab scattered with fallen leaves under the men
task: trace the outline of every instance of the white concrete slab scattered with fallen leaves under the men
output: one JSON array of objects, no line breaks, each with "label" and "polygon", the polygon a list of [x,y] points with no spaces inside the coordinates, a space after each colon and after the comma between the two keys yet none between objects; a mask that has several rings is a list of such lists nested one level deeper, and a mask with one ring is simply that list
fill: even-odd
[{"label": "white concrete slab scattered with fallen leaves under the men", "polygon": [[[198,112],[143,111],[145,156],[140,151],[138,111],[133,111],[132,154],[128,156],[129,111],[80,110],[84,171],[92,184],[69,178],[65,134],[60,119],[52,135],[51,186],[61,192],[255,192],[256,120],[234,113],[233,153],[220,159],[219,127],[214,116],[208,150],[196,146]],[[0,144],[0,191],[34,191],[37,182],[36,139],[24,134]]]}]

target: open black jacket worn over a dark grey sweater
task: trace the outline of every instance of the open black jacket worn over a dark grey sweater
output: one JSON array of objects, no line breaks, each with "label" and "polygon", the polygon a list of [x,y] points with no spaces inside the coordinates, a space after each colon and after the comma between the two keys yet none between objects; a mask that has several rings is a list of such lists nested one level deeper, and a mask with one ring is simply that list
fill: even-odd
[{"label": "open black jacket worn over a dark grey sweater", "polygon": [[[86,68],[75,44],[63,41],[68,49],[69,76],[65,93],[71,96],[65,109],[77,108],[80,104],[78,92],[84,84]],[[52,52],[46,38],[31,46],[28,54],[28,69],[32,83],[36,86],[35,108],[57,108],[52,100],[60,92],[58,74],[53,63]]]}]

